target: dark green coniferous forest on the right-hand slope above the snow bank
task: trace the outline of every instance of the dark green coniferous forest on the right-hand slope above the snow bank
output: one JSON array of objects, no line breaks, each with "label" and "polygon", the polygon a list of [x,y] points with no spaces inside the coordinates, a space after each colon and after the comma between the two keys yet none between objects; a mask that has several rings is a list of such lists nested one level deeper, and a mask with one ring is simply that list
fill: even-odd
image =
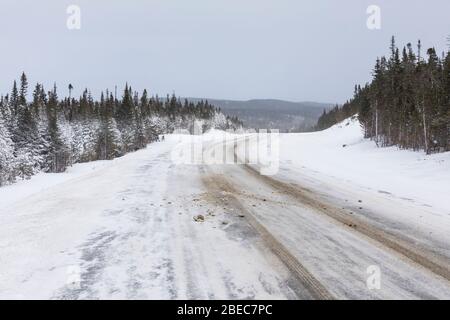
[{"label": "dark green coniferous forest on the right-hand slope above the snow bank", "polygon": [[354,97],[322,114],[317,129],[326,129],[358,114],[366,138],[378,146],[424,150],[450,150],[450,52],[434,48],[422,53],[418,42],[397,48],[377,59],[373,79],[356,86]]}]

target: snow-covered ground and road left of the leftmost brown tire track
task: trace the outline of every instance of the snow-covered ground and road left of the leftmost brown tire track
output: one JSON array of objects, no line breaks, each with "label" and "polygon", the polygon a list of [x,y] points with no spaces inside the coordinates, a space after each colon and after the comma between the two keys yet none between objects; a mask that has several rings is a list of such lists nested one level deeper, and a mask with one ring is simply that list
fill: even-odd
[{"label": "snow-covered ground and road left of the leftmost brown tire track", "polygon": [[308,298],[245,220],[211,204],[200,167],[170,161],[174,144],[2,206],[0,298]]}]

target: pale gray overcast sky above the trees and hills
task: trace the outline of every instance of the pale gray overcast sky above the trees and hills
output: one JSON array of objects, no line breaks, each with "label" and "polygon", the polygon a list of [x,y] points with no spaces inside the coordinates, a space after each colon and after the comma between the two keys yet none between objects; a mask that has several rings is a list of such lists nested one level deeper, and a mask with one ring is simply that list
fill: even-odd
[{"label": "pale gray overcast sky above the trees and hills", "polygon": [[[66,27],[68,5],[81,29]],[[366,27],[368,5],[381,30]],[[0,92],[72,83],[179,96],[344,102],[390,37],[446,49],[449,0],[1,0]]]}]

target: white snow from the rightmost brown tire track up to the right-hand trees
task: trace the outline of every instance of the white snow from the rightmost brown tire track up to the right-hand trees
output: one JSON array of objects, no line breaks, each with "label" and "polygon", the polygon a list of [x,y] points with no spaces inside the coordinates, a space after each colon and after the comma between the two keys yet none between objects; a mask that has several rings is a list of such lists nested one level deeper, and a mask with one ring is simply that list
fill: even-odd
[{"label": "white snow from the rightmost brown tire track up to the right-hand trees", "polygon": [[450,152],[378,148],[355,118],[280,139],[278,179],[450,261]]}]

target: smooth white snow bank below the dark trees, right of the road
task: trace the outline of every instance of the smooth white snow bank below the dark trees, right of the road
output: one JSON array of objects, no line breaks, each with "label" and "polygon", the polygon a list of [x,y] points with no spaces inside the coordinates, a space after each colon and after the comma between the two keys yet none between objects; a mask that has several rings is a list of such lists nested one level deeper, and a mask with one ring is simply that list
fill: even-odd
[{"label": "smooth white snow bank below the dark trees, right of the road", "polygon": [[450,152],[378,148],[364,139],[359,121],[327,130],[281,134],[281,166],[317,173],[450,212]]}]

